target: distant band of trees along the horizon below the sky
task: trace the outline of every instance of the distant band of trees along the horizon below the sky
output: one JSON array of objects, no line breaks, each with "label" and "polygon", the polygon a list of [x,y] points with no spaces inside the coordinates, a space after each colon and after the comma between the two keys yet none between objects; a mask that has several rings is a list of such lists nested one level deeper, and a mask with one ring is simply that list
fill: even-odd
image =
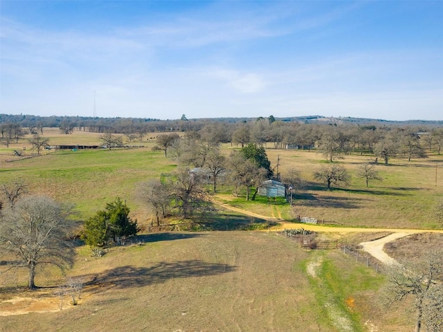
[{"label": "distant band of trees along the horizon below the sky", "polygon": [[[442,153],[443,122],[354,122],[343,118],[218,118],[179,120],[152,118],[90,118],[80,116],[8,116],[0,114],[3,145],[17,142],[24,134],[44,135],[44,128],[59,128],[62,133],[90,131],[120,134],[125,140],[146,140],[156,133],[182,132],[208,145],[230,143],[245,147],[249,143],[265,148],[311,149],[316,147],[329,161],[345,154],[373,154],[388,165],[390,158],[422,158],[426,150]],[[439,127],[440,126],[440,127]],[[155,133],[155,134],[154,134]],[[168,140],[168,138],[165,138]],[[162,149],[167,154],[168,145]]]}]

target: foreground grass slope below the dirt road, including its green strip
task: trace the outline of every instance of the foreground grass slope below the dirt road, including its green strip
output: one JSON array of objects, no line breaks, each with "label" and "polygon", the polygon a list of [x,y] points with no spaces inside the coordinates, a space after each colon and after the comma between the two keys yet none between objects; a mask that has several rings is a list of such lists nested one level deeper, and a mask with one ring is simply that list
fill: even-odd
[{"label": "foreground grass slope below the dirt road, including its green strip", "polygon": [[[404,313],[383,313],[378,304],[384,277],[338,250],[303,250],[273,232],[174,232],[137,240],[142,244],[112,248],[98,259],[79,247],[69,271],[86,281],[78,305],[65,297],[63,310],[57,308],[53,292],[62,279],[48,278],[48,271],[37,278],[45,288],[32,297],[42,292],[51,307],[4,316],[13,304],[0,301],[0,331],[338,331],[341,317],[331,316],[327,304],[339,308],[352,331],[370,331],[372,322],[373,331],[407,329]],[[318,267],[327,283],[307,273],[318,255],[328,265]],[[8,292],[5,298],[31,296]]]}]

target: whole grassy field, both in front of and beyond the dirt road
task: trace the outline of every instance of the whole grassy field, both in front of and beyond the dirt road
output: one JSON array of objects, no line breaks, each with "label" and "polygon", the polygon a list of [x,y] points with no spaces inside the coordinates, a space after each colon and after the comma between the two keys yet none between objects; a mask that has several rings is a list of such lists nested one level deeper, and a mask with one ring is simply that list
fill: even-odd
[{"label": "whole grassy field, both in front of and beyond the dirt road", "polygon": [[[100,134],[82,131],[63,135],[46,129],[44,136],[50,145],[101,144]],[[25,138],[0,149],[0,183],[21,179],[31,193],[75,205],[79,223],[119,196],[146,230],[152,217],[136,199],[136,187],[177,165],[163,151],[152,150],[154,141],[131,145],[138,147],[43,151],[28,158],[33,152]],[[226,154],[236,149],[222,148]],[[14,156],[15,150],[22,156]],[[245,220],[293,223],[296,216],[308,216],[328,229],[365,228],[364,234],[318,235],[352,246],[380,237],[377,232],[383,229],[437,230],[441,225],[433,208],[443,199],[443,156],[429,154],[410,162],[392,158],[388,166],[377,165],[383,181],[372,181],[369,187],[356,169],[372,156],[345,156],[335,163],[349,170],[352,182],[329,191],[312,175],[325,164],[320,152],[266,149],[266,154],[272,167],[280,160],[282,174],[295,167],[307,181],[295,193],[293,209],[284,200],[246,201],[242,192],[232,196],[232,188],[221,185],[216,202],[260,217],[220,207],[224,218],[219,231],[142,232],[132,244],[111,248],[100,258],[91,257],[89,247],[78,241],[75,265],[66,275],[84,281],[79,304],[71,306],[65,298],[59,309],[60,298],[54,294],[64,275],[58,270],[39,271],[36,283],[41,288],[33,292],[24,291],[26,271],[1,274],[0,331],[412,330],[410,303],[387,310],[381,294],[386,276],[341,250],[300,248],[272,232],[278,225],[262,232],[221,230]],[[439,234],[425,234],[414,236],[412,244],[409,237],[398,240],[390,252],[401,247],[397,258],[408,259],[417,248],[441,243]]]}]

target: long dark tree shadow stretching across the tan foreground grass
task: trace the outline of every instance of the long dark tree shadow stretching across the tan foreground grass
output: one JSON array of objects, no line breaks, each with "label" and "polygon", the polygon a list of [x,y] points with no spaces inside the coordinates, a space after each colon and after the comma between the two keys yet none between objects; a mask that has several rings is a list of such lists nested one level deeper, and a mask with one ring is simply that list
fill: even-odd
[{"label": "long dark tree shadow stretching across the tan foreground grass", "polygon": [[87,282],[87,285],[111,286],[114,288],[140,287],[162,284],[169,279],[221,275],[233,272],[236,269],[236,266],[207,263],[197,259],[161,261],[150,267],[118,266],[105,270]]}]

